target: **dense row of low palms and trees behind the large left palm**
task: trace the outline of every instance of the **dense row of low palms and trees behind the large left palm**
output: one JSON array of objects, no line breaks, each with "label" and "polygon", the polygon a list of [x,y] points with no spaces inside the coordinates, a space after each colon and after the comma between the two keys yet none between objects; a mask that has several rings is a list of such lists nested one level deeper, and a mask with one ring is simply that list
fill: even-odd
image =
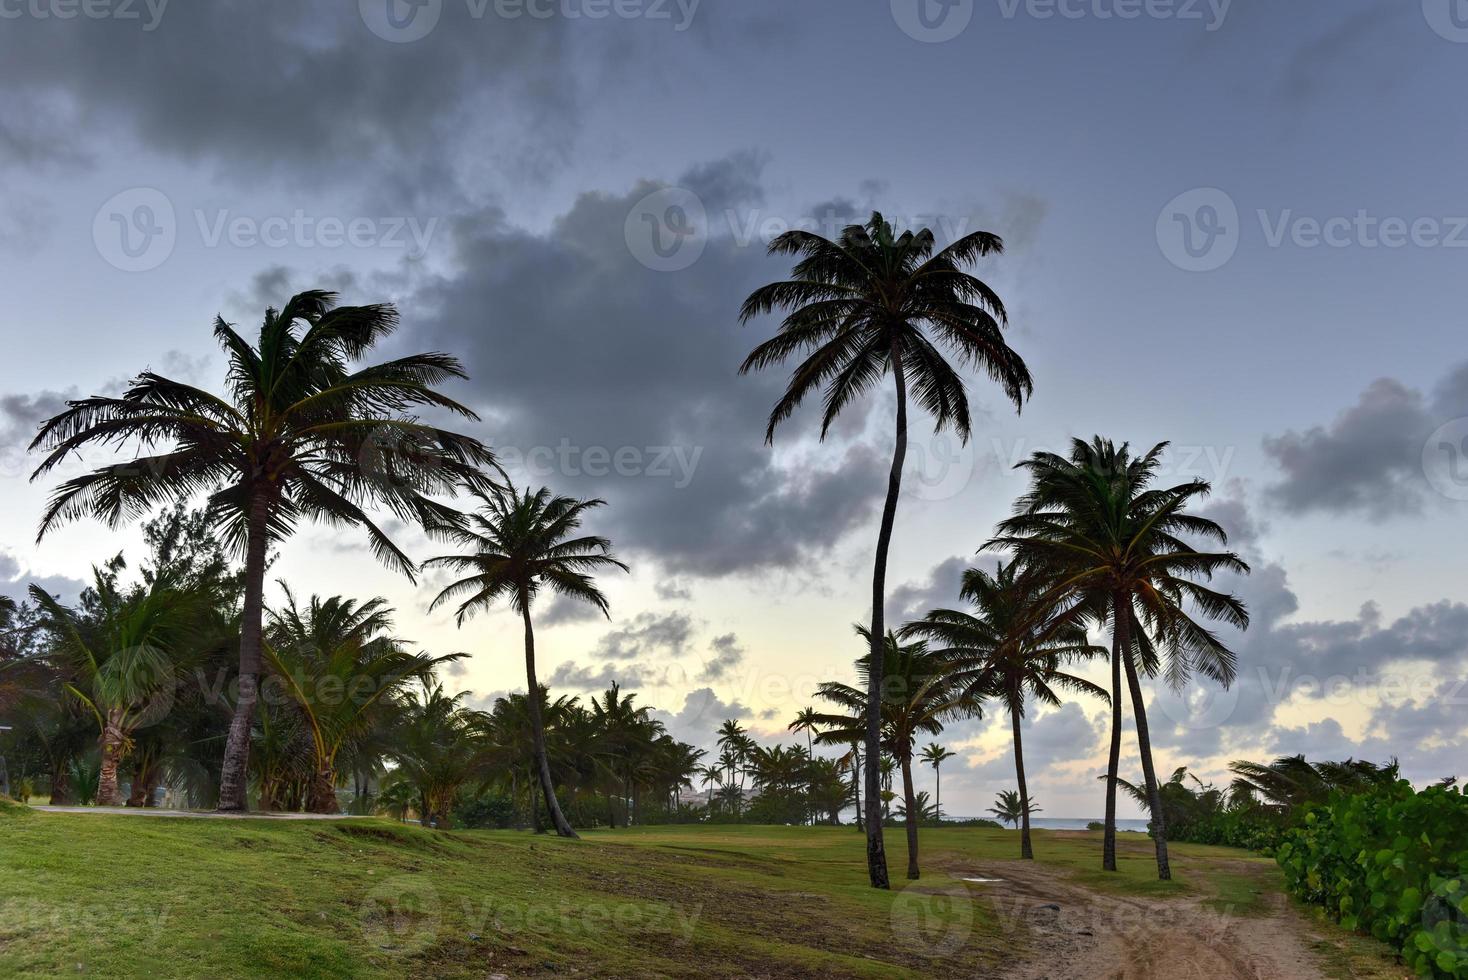
[{"label": "dense row of low palms and trees behind the large left palm", "polygon": [[[175,506],[145,535],[135,581],[119,557],[95,569],[75,606],[40,588],[25,604],[0,604],[7,754],[56,804],[148,807],[160,788],[179,805],[219,797],[241,577],[203,512]],[[493,797],[508,801],[502,822],[539,827],[545,814],[553,826],[542,744],[580,826],[668,819],[693,786],[703,753],[671,738],[636,695],[612,687],[583,703],[542,687],[539,714],[518,692],[474,707],[437,679],[464,654],[414,650],[385,600],[298,599],[283,582],[282,594],[264,613],[247,773],[263,810],[383,805],[448,826],[455,810]]]}]

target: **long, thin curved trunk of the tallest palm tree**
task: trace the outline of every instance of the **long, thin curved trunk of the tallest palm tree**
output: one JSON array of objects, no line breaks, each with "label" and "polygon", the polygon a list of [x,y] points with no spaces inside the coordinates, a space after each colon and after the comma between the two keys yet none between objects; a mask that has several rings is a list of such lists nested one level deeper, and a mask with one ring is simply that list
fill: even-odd
[{"label": "long, thin curved trunk of the tallest palm tree", "polygon": [[872,888],[891,888],[887,880],[887,846],[882,844],[882,808],[878,772],[872,760],[881,758],[882,739],[882,663],[887,646],[887,552],[897,522],[897,497],[903,490],[903,465],[907,462],[907,379],[903,358],[893,348],[893,381],[897,384],[897,445],[893,469],[887,478],[887,502],[876,533],[876,559],[872,562],[872,651],[866,682],[866,873]]}]

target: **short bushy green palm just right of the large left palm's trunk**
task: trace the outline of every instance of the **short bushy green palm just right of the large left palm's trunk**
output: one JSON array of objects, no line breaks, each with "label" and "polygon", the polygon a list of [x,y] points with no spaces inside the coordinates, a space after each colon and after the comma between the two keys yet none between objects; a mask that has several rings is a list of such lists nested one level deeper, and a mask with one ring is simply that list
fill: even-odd
[{"label": "short bushy green palm just right of the large left palm's trunk", "polygon": [[383,700],[402,692],[410,681],[433,676],[435,668],[464,659],[462,653],[430,657],[411,653],[388,635],[392,610],[385,599],[311,596],[301,609],[282,582],[286,604],[270,613],[264,656],[301,713],[311,739],[311,783],[307,813],[339,813],[336,758],[371,729]]}]

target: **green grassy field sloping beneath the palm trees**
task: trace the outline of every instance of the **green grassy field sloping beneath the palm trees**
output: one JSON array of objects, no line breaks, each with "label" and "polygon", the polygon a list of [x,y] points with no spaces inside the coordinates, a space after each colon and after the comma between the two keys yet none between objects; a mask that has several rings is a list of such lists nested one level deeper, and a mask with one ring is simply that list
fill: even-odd
[{"label": "green grassy field sloping beneath the palm trees", "polygon": [[[1126,835],[1036,835],[1041,864],[1102,895],[1260,914],[1267,860],[1177,846],[1154,880]],[[890,836],[894,871],[901,835]],[[0,811],[0,976],[975,976],[1026,930],[966,883],[1011,832],[923,835],[922,882],[865,886],[847,827],[643,827],[584,841],[386,820],[273,823]]]}]

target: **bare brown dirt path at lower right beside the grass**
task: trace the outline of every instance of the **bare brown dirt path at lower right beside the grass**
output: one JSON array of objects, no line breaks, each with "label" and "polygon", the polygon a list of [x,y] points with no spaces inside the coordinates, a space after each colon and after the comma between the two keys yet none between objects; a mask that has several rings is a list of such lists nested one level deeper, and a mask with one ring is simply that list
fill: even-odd
[{"label": "bare brown dirt path at lower right beside the grass", "polygon": [[1014,980],[1318,980],[1307,930],[1283,896],[1265,915],[1226,915],[1201,898],[1127,898],[1094,892],[1031,861],[954,870],[1001,879],[976,885],[1000,924],[1029,937],[1032,955],[1006,968]]}]

